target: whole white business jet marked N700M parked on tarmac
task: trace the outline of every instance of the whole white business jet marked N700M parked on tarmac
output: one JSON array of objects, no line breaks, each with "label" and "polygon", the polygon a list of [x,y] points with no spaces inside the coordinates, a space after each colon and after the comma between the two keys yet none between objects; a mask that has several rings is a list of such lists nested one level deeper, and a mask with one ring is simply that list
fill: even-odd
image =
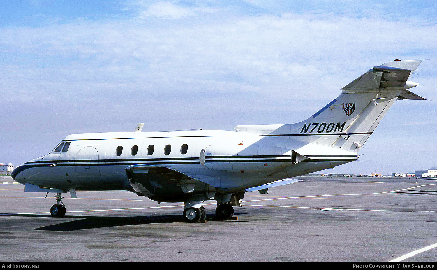
[{"label": "whole white business jet marked N700M parked on tarmac", "polygon": [[83,133],[65,137],[49,154],[12,172],[24,192],[56,193],[53,216],[63,216],[62,193],[129,190],[157,202],[183,202],[184,218],[205,219],[216,200],[229,219],[246,192],[267,193],[290,179],[358,159],[357,152],[397,99],[424,99],[408,81],[422,60],[373,67],[311,117],[295,124],[235,126],[236,131],[184,130]]}]

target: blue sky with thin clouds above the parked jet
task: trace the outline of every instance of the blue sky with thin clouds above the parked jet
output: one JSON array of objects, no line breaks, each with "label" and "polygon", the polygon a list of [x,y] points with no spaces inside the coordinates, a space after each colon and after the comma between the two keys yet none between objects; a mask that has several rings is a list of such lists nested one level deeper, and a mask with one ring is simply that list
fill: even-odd
[{"label": "blue sky with thin clouds above the parked jet", "polygon": [[295,123],[369,68],[429,59],[359,154],[330,173],[437,165],[434,1],[3,1],[0,162],[66,135]]}]

